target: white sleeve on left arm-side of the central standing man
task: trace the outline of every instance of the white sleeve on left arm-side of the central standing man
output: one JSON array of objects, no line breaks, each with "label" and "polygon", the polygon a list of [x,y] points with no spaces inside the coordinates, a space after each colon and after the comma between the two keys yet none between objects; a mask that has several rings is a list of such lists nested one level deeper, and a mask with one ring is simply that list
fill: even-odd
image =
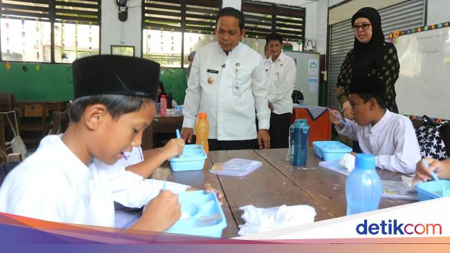
[{"label": "white sleeve on left arm-side of the central standing man", "polygon": [[195,116],[197,115],[200,106],[200,58],[201,53],[197,53],[196,57],[194,57],[194,62],[192,62],[192,66],[190,68],[186,97],[184,97],[183,127],[188,127],[191,129],[195,126]]}]

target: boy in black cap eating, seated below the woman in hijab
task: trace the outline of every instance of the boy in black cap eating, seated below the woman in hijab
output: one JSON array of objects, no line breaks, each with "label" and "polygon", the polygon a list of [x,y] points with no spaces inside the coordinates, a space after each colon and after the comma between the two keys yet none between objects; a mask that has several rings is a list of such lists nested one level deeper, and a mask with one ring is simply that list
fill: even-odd
[{"label": "boy in black cap eating, seated below the woman in hijab", "polygon": [[414,174],[420,160],[420,148],[411,120],[391,113],[384,100],[386,88],[377,77],[354,77],[349,88],[349,101],[354,121],[345,119],[345,126],[330,113],[336,130],[357,140],[363,153],[376,157],[377,167],[403,174]]}]

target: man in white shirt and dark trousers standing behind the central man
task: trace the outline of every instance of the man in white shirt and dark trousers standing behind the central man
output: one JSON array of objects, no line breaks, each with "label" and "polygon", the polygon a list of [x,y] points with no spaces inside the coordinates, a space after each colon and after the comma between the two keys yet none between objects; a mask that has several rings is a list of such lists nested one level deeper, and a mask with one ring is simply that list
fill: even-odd
[{"label": "man in white shirt and dark trousers standing behind the central man", "polygon": [[271,33],[266,37],[270,57],[264,60],[266,79],[269,84],[270,147],[289,146],[289,127],[292,118],[292,91],[296,79],[294,59],[281,52],[282,37]]}]

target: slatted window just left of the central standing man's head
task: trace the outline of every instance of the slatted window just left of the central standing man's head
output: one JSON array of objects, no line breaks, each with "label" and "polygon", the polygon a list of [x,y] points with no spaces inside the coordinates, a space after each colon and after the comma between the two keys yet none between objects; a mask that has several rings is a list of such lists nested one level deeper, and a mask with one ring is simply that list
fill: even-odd
[{"label": "slatted window just left of the central standing man's head", "polygon": [[143,57],[187,67],[190,52],[214,41],[220,6],[217,0],[143,0]]}]

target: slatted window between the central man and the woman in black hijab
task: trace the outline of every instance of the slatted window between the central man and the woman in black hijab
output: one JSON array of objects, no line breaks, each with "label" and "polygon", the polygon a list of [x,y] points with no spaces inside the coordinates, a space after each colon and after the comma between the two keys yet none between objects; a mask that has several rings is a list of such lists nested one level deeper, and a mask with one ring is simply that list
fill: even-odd
[{"label": "slatted window between the central man and the woman in black hijab", "polygon": [[305,38],[305,8],[274,3],[242,1],[245,15],[244,43],[263,55],[265,37],[278,32],[285,39],[283,48],[301,50]]}]

